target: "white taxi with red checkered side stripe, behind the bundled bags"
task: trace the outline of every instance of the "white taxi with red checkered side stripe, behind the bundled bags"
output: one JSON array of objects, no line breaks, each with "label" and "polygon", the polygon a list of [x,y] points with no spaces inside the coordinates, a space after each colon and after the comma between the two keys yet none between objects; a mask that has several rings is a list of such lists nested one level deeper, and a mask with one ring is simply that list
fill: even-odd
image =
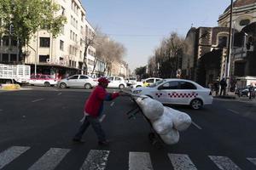
[{"label": "white taxi with red checkered side stripe, behind the bundled bags", "polygon": [[163,104],[190,105],[195,110],[212,104],[212,92],[209,88],[184,79],[163,79],[149,87],[134,88],[131,95],[147,95]]}]

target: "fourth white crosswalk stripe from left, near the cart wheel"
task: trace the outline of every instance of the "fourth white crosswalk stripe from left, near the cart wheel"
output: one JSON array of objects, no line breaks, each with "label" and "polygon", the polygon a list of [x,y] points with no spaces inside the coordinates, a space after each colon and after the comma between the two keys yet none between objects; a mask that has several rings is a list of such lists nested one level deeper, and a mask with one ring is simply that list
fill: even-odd
[{"label": "fourth white crosswalk stripe from left, near the cart wheel", "polygon": [[153,170],[150,156],[147,152],[129,153],[129,170]]}]

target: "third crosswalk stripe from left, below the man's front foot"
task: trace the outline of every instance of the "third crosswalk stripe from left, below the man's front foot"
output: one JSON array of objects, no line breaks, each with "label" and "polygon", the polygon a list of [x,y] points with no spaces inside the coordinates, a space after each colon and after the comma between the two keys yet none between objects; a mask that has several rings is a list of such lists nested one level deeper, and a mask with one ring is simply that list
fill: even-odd
[{"label": "third crosswalk stripe from left, below the man's front foot", "polygon": [[104,170],[109,152],[109,150],[90,150],[80,170]]}]

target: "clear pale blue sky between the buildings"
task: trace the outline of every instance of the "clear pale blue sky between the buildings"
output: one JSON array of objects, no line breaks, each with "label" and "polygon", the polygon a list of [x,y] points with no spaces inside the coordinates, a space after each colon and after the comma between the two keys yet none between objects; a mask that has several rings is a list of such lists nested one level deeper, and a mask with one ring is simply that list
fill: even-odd
[{"label": "clear pale blue sky between the buildings", "polygon": [[191,26],[218,26],[230,0],[82,0],[87,20],[126,48],[133,71],[147,65],[154,49],[175,31],[185,37]]}]

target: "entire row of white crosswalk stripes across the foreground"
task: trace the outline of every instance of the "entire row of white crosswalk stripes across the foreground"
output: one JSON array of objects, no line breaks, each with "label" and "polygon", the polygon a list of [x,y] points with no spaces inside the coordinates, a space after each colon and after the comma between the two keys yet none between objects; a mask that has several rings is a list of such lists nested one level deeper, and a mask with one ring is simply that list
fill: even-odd
[{"label": "entire row of white crosswalk stripes across the foreground", "polygon": [[[29,146],[11,146],[6,150],[0,152],[0,169],[3,169],[7,165],[11,164],[12,161],[19,159],[26,151],[31,150]],[[61,148],[49,148],[43,155],[38,158],[37,161],[31,162],[28,170],[54,170],[63,162],[63,159],[71,149]],[[84,162],[79,168],[80,170],[104,170],[108,165],[110,150],[90,150]],[[168,160],[171,162],[174,170],[197,170],[197,167],[193,161],[185,154],[167,154]],[[215,164],[216,169],[221,170],[241,170],[242,168],[237,166],[227,156],[207,156],[209,160]],[[256,169],[256,158],[247,157],[246,161],[255,166]],[[67,160],[66,160],[67,161]],[[154,170],[154,162],[150,158],[148,152],[129,152],[129,160],[127,160],[129,170]],[[125,165],[127,166],[127,165]],[[23,169],[23,168],[22,168]],[[125,168],[124,168],[125,169]]]}]

